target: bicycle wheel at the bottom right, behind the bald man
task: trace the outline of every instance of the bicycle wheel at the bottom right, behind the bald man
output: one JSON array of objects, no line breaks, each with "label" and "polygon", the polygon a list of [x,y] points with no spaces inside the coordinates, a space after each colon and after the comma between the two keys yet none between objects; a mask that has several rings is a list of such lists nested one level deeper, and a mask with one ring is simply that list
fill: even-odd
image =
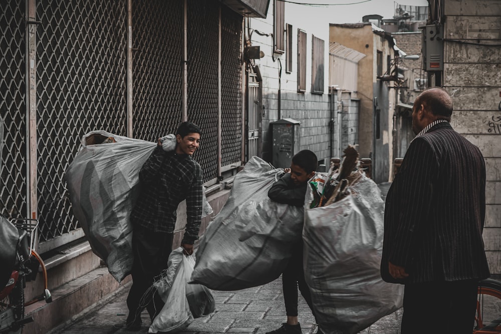
[{"label": "bicycle wheel at the bottom right, behind the bald man", "polygon": [[501,282],[487,278],[478,283],[473,333],[501,333]]}]

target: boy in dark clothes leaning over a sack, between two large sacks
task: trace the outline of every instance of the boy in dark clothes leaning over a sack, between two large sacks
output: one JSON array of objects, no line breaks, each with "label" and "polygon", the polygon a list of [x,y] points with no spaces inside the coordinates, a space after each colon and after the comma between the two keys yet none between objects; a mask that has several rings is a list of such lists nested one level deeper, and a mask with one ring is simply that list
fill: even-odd
[{"label": "boy in dark clothes leaning over a sack, between two large sacks", "polygon": [[[292,157],[291,168],[286,168],[284,175],[275,182],[268,191],[271,200],[303,207],[310,180],[317,170],[317,155],[310,150],[299,151]],[[303,239],[292,245],[292,254],[287,267],[282,273],[282,289],[287,314],[287,322],[278,329],[266,334],[301,334],[301,324],[298,320],[298,287],[313,312],[311,293],[305,280],[303,270]],[[313,314],[315,315],[315,314]],[[317,334],[321,334],[320,328]]]}]

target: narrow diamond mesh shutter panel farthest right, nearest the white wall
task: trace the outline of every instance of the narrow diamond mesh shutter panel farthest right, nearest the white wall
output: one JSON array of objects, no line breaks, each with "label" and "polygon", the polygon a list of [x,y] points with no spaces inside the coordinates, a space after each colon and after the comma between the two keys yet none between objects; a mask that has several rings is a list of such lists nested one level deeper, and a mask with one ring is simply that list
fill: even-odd
[{"label": "narrow diamond mesh shutter panel farthest right, nearest the white wall", "polygon": [[242,143],[242,17],[221,10],[221,165],[241,160]]}]

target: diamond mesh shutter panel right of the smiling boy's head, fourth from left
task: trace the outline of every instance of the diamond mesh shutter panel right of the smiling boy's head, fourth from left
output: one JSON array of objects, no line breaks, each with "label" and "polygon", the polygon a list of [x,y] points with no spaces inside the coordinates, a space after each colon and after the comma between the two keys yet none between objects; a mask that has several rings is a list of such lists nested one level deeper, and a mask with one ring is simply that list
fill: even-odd
[{"label": "diamond mesh shutter panel right of the smiling boy's head, fourth from left", "polygon": [[207,181],[217,177],[219,8],[213,2],[189,0],[187,12],[188,121],[202,129],[200,150],[193,158]]}]

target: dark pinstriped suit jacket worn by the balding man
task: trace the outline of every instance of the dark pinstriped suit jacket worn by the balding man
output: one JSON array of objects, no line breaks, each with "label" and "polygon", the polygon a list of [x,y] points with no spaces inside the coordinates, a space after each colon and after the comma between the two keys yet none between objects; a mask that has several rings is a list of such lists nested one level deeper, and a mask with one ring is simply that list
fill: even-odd
[{"label": "dark pinstriped suit jacket worn by the balding man", "polygon": [[[417,283],[483,279],[485,162],[448,122],[416,137],[386,197],[381,276]],[[409,276],[393,279],[388,261]]]}]

